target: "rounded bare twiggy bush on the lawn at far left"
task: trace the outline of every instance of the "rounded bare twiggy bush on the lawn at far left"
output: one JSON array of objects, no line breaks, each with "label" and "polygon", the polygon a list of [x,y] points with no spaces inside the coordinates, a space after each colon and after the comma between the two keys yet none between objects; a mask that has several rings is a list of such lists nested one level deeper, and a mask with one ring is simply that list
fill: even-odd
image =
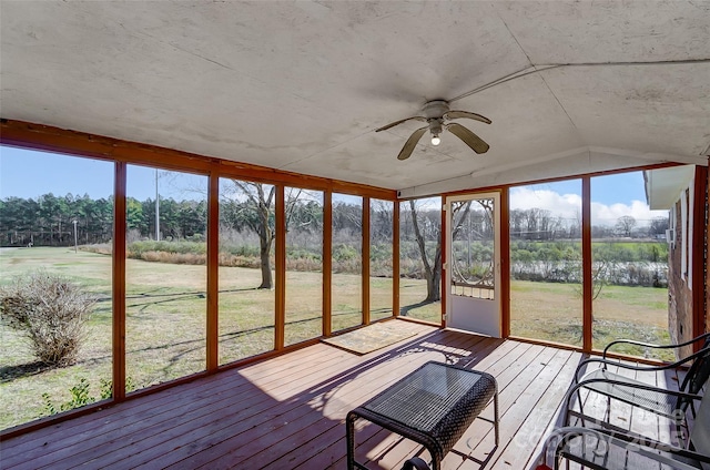
[{"label": "rounded bare twiggy bush on the lawn at far left", "polygon": [[39,360],[63,367],[77,360],[94,303],[68,279],[38,272],[0,288],[0,319],[27,335]]}]

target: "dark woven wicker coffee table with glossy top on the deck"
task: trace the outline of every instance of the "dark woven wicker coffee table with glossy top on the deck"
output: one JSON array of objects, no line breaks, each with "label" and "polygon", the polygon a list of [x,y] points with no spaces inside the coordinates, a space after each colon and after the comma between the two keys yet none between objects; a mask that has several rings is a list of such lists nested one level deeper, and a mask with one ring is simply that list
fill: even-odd
[{"label": "dark woven wicker coffee table with glossy top on the deck", "polygon": [[[494,400],[493,423],[498,446],[498,386],[486,372],[442,362],[426,362],[347,413],[347,468],[355,461],[355,421],[366,419],[424,446],[434,470],[480,411]],[[483,418],[481,418],[483,419]],[[454,452],[467,457],[454,450]]]}]

